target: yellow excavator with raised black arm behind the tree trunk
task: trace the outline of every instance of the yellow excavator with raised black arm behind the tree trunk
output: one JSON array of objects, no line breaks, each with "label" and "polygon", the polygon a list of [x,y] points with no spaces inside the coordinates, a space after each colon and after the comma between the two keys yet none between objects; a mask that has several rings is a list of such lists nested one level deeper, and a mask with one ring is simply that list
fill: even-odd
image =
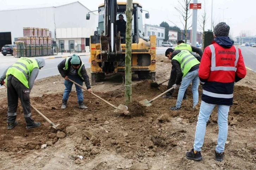
[{"label": "yellow excavator with raised black arm behind the tree trunk", "polygon": [[[97,31],[90,36],[91,84],[104,81],[105,74],[124,72],[126,32],[126,2],[104,0],[99,5]],[[156,36],[145,37],[142,23],[142,6],[133,2],[132,21],[132,72],[140,79],[156,79]],[[93,11],[92,11],[93,12]],[[145,14],[148,19],[149,13]],[[121,16],[121,19],[119,18]],[[119,20],[118,20],[119,18]],[[90,14],[86,14],[90,19]],[[121,22],[121,21],[122,22]]]}]

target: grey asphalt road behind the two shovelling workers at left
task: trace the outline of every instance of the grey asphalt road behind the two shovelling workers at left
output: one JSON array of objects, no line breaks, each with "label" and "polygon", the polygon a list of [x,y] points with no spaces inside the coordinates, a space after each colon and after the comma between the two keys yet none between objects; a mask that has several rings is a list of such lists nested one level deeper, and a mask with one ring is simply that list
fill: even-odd
[{"label": "grey asphalt road behind the two shovelling workers at left", "polygon": [[[12,57],[13,58],[13,57]],[[82,59],[82,61],[85,64],[85,68],[90,67],[90,63],[89,61],[89,56],[80,56],[80,58]],[[39,71],[39,74],[37,76],[36,79],[40,79],[40,78],[45,78],[45,77],[49,77],[49,76],[53,76],[56,74],[60,74],[59,70],[57,68],[57,65],[65,58],[54,58],[54,59],[45,59],[45,66]],[[2,65],[2,67],[0,68],[0,74],[2,75],[2,73],[4,73],[4,71],[14,63],[13,62],[8,62],[5,63],[4,65]],[[0,76],[1,76],[0,75]],[[1,86],[4,87],[4,86]]]}]

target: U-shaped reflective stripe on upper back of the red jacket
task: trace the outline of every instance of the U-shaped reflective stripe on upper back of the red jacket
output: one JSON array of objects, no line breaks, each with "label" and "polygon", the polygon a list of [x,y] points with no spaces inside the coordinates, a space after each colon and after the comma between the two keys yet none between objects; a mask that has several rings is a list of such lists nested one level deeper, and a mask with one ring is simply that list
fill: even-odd
[{"label": "U-shaped reflective stripe on upper back of the red jacket", "polygon": [[239,58],[239,51],[238,51],[238,47],[234,46],[236,48],[236,61],[234,63],[234,67],[226,67],[226,66],[217,66],[216,67],[216,54],[215,54],[215,48],[214,45],[209,45],[211,52],[212,52],[212,67],[211,67],[211,71],[218,71],[218,70],[223,70],[223,71],[237,71],[237,61]]}]

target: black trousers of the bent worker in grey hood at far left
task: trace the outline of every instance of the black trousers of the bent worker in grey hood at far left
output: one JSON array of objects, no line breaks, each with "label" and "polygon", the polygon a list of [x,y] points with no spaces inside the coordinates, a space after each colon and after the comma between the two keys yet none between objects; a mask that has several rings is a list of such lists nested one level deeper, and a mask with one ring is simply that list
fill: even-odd
[{"label": "black trousers of the bent worker in grey hood at far left", "polygon": [[30,89],[26,88],[13,75],[7,77],[7,101],[8,101],[8,117],[7,123],[14,123],[17,117],[18,98],[22,104],[23,114],[28,126],[33,125],[30,106]]}]

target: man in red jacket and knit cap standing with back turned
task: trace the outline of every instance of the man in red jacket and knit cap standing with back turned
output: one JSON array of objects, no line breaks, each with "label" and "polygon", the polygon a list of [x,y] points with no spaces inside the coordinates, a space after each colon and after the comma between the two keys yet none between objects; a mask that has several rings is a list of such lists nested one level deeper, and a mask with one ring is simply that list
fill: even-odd
[{"label": "man in red jacket and knit cap standing with back turned", "polygon": [[196,125],[194,147],[186,153],[187,159],[202,160],[201,148],[205,138],[206,123],[212,110],[218,105],[219,134],[215,148],[215,160],[223,160],[227,140],[227,117],[233,105],[234,83],[246,75],[241,50],[228,37],[230,27],[219,23],[214,27],[214,41],[205,48],[199,66],[199,78],[203,87],[202,102]]}]

